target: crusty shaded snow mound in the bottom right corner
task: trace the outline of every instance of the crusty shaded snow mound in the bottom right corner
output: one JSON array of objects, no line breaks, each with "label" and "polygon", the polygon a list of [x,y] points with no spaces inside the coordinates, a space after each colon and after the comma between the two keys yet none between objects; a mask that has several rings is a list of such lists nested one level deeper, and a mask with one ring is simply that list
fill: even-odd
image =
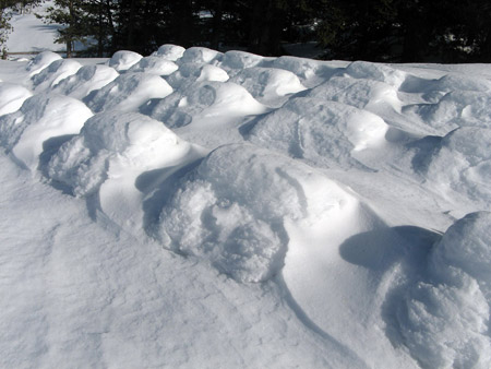
[{"label": "crusty shaded snow mound in the bottom right corner", "polygon": [[398,298],[404,344],[423,368],[490,368],[491,213],[457,221],[433,247],[427,277]]}]

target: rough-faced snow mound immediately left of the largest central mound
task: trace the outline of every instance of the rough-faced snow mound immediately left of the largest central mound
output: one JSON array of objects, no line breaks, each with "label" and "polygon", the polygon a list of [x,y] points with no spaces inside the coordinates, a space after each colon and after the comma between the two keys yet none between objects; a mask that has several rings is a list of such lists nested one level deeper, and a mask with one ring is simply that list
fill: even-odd
[{"label": "rough-faced snow mound immediately left of the largest central mound", "polygon": [[169,165],[189,148],[161,122],[146,116],[103,112],[88,119],[80,134],[60,147],[48,174],[79,197],[97,191],[111,179],[121,184],[128,176],[134,188],[136,174]]}]

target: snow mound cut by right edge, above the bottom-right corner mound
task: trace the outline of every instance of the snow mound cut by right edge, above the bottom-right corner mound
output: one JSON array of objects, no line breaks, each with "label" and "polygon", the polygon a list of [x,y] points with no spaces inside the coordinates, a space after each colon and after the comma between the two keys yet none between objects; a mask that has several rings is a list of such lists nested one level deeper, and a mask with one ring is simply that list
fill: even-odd
[{"label": "snow mound cut by right edge, above the bottom-right corner mound", "polygon": [[491,129],[463,127],[445,135],[429,158],[427,178],[440,193],[466,194],[491,209]]}]

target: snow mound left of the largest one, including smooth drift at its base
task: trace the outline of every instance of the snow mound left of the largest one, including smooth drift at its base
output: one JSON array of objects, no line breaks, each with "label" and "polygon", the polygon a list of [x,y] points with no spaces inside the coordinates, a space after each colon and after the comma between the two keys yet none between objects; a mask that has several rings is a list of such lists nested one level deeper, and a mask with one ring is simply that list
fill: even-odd
[{"label": "snow mound left of the largest one, including smooth drift at its base", "polygon": [[[109,111],[88,119],[80,134],[50,158],[47,172],[76,197],[96,193],[95,207],[134,230],[144,228],[144,197],[204,153],[159,121],[136,112]],[[154,175],[145,180],[145,172]]]}]

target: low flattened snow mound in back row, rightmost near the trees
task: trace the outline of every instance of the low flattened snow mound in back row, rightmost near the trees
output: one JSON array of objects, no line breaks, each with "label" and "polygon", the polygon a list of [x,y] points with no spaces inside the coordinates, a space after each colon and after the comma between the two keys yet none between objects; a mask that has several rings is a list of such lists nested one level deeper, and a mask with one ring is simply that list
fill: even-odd
[{"label": "low flattened snow mound in back row, rightmost near the trees", "polygon": [[346,67],[343,73],[358,80],[366,79],[384,82],[396,88],[399,88],[407,78],[406,72],[386,64],[368,61],[354,61]]}]

